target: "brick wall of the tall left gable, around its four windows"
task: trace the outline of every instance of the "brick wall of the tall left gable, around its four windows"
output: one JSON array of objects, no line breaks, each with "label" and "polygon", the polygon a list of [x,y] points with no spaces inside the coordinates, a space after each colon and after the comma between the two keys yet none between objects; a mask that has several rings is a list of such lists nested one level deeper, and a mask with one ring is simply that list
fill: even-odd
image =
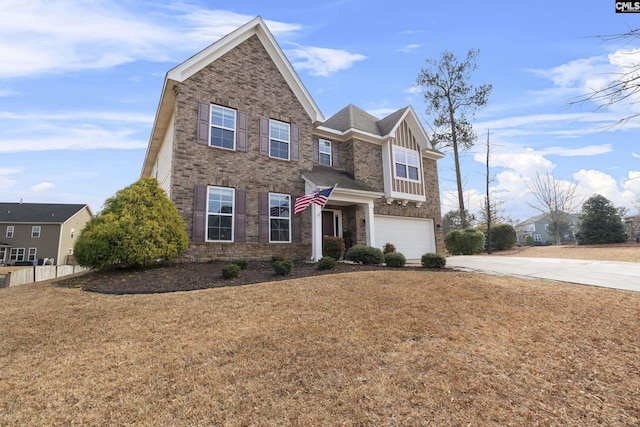
[{"label": "brick wall of the tall left gable, around its four windows", "polygon": [[[196,142],[198,102],[211,102],[248,113],[247,151],[238,152]],[[271,159],[259,153],[260,117],[297,125],[300,161]],[[302,214],[302,243],[259,243],[258,193],[295,197],[304,194],[301,169],[312,167],[312,123],[262,43],[253,36],[177,88],[174,169],[171,195],[192,235],[195,185],[214,185],[247,192],[246,243],[191,242],[182,261],[291,259],[311,256],[311,214]]]}]

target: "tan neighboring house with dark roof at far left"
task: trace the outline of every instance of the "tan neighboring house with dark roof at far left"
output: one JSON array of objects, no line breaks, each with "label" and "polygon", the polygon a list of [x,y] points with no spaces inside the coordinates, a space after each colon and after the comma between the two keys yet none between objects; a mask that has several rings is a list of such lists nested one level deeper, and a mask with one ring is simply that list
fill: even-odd
[{"label": "tan neighboring house with dark roof at far left", "polygon": [[71,262],[73,244],[92,217],[87,205],[0,203],[0,264]]}]

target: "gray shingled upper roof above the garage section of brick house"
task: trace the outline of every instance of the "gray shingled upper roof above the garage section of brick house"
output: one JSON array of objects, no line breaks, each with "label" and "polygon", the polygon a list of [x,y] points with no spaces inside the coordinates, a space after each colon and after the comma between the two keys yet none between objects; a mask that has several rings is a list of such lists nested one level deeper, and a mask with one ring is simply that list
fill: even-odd
[{"label": "gray shingled upper roof above the garage section of brick house", "polygon": [[339,130],[340,132],[345,132],[349,129],[358,129],[374,135],[385,136],[398,124],[398,121],[407,108],[409,107],[401,108],[381,120],[355,105],[349,104],[329,117],[329,119],[323,123],[323,126]]}]

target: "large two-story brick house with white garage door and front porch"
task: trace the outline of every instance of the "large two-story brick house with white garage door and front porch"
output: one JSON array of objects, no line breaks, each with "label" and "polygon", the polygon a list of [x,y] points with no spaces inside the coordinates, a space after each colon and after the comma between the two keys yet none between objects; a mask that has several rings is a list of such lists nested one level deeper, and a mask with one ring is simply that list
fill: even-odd
[{"label": "large two-story brick house with white garage door and front porch", "polygon": [[[325,236],[443,252],[434,149],[412,107],[325,119],[261,17],[170,70],[142,167],[184,219],[183,261],[318,260]],[[337,184],[324,208],[295,199]]]}]

